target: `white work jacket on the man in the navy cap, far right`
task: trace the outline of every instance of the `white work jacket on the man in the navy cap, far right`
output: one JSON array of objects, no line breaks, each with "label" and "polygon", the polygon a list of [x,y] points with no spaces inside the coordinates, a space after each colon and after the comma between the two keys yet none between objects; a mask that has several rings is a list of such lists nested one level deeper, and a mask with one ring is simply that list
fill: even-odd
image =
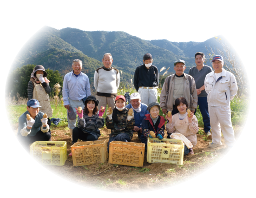
[{"label": "white work jacket on the man in the navy cap, far right", "polygon": [[222,68],[221,76],[215,79],[214,71],[205,77],[205,91],[209,106],[230,106],[230,101],[237,95],[238,85],[235,76]]}]

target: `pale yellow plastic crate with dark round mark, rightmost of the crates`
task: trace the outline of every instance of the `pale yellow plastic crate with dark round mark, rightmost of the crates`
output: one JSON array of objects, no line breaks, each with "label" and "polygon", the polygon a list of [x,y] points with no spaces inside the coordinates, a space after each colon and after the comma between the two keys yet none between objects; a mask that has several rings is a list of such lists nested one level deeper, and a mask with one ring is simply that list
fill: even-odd
[{"label": "pale yellow plastic crate with dark round mark, rightmost of the crates", "polygon": [[[153,140],[154,142],[149,142]],[[167,144],[163,141],[179,142],[180,144]],[[167,147],[167,148],[166,148]],[[174,163],[183,164],[184,143],[181,140],[163,138],[148,138],[147,162],[148,163]]]}]

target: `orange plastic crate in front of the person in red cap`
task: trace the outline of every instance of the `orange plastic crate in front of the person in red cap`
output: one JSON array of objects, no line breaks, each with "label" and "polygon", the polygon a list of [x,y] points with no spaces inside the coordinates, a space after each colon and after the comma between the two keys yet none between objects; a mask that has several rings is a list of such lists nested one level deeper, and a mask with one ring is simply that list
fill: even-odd
[{"label": "orange plastic crate in front of the person in red cap", "polygon": [[[127,145],[123,144],[126,143]],[[134,146],[136,144],[136,146]],[[112,141],[109,144],[109,163],[142,167],[145,144],[137,142]]]}]

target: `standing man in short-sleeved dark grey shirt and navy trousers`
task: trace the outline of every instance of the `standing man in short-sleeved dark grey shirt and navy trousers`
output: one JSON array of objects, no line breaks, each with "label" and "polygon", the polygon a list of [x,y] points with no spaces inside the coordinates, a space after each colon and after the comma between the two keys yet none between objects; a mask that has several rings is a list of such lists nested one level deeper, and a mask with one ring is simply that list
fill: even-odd
[{"label": "standing man in short-sleeved dark grey shirt and navy trousers", "polygon": [[[205,92],[205,77],[212,72],[212,68],[204,65],[205,54],[202,52],[195,53],[196,66],[189,69],[188,75],[191,75],[195,80],[196,93],[198,94],[198,105],[202,113],[202,121],[204,122],[204,130],[206,135],[211,135],[210,117],[207,103],[207,93]],[[196,113],[196,109],[195,109]],[[194,113],[194,114],[195,114]]]}]

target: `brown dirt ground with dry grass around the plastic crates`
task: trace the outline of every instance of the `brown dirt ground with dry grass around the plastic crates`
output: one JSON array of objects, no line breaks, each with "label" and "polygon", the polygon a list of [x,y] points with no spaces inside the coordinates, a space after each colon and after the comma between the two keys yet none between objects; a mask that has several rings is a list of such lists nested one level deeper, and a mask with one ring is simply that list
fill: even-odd
[{"label": "brown dirt ground with dry grass around the plastic crates", "polygon": [[[11,126],[14,134],[17,133],[17,124]],[[235,138],[238,140],[244,128],[235,126]],[[101,129],[99,140],[109,138],[110,130]],[[71,153],[70,134],[68,130],[52,130],[52,141],[67,141],[67,154]],[[222,138],[221,147],[209,149],[211,142],[205,135],[198,135],[198,143],[194,148],[195,155],[187,155],[183,159],[182,166],[166,163],[148,163],[145,155],[143,168],[121,166],[116,164],[96,163],[89,166],[74,167],[72,157],[67,155],[64,166],[43,166],[51,173],[64,180],[82,187],[115,193],[142,193],[165,189],[182,182],[193,179],[213,167],[228,152]],[[132,142],[139,142],[134,133]],[[202,183],[201,183],[202,185]],[[95,191],[96,193],[96,191]]]}]

